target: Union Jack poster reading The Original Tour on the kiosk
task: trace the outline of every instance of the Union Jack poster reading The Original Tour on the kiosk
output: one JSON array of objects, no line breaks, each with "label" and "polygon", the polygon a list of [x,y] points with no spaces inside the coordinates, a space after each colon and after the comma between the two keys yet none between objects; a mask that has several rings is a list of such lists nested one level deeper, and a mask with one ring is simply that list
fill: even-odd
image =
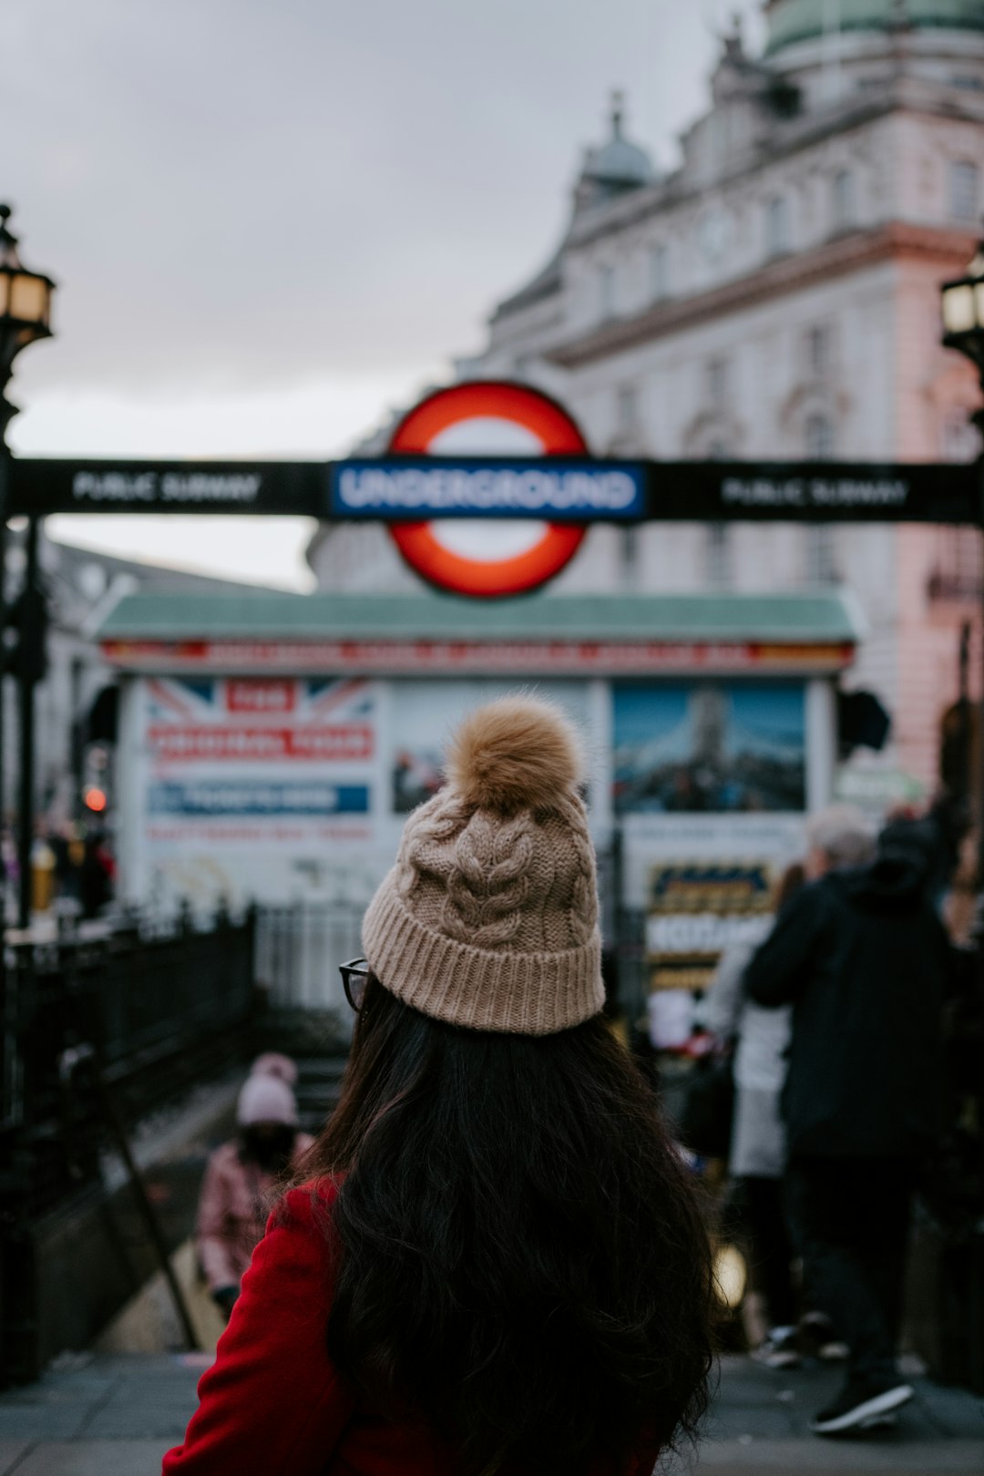
[{"label": "Union Jack poster reading The Original Tour on the kiosk", "polygon": [[131,722],[148,900],[288,900],[373,840],[373,682],[143,677]]}]

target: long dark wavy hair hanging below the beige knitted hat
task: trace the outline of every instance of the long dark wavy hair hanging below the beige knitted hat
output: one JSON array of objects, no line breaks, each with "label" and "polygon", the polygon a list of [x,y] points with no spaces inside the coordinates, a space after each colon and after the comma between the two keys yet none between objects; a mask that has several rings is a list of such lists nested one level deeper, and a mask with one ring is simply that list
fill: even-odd
[{"label": "long dark wavy hair hanging below the beige knitted hat", "polygon": [[328,1343],[369,1407],[462,1469],[615,1469],[708,1401],[714,1292],[695,1190],[600,1017],[533,1038],[431,1020],[370,979],[341,1101]]}]

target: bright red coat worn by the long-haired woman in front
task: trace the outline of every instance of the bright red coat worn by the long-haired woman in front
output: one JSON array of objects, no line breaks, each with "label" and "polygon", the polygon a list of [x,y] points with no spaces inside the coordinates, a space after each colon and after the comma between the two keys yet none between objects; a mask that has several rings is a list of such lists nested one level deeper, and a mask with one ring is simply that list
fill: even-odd
[{"label": "bright red coat worn by the long-haired woman in front", "polygon": [[[319,1193],[330,1203],[335,1191]],[[310,1190],[291,1190],[288,1207],[286,1224],[271,1216],[257,1246],[164,1476],[456,1476],[451,1451],[426,1426],[366,1414],[332,1365],[325,1231]],[[651,1476],[656,1455],[640,1451],[626,1476]],[[597,1476],[612,1473],[599,1467]]]}]

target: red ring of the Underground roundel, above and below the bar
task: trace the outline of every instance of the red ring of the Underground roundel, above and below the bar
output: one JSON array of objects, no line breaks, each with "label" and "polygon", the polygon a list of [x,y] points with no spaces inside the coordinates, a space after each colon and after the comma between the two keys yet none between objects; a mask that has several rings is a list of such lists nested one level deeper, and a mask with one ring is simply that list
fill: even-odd
[{"label": "red ring of the Underground roundel, above and below the bar", "polygon": [[[493,418],[522,425],[547,456],[584,456],[587,443],[568,412],[538,390],[506,379],[475,379],[435,390],[403,418],[389,440],[395,453],[426,456],[431,443],[459,421]],[[524,554],[496,561],[454,554],[434,534],[431,523],[394,523],[389,534],[407,564],[429,583],[457,595],[522,595],[537,589],[577,554],[586,528],[549,523],[543,537]]]}]

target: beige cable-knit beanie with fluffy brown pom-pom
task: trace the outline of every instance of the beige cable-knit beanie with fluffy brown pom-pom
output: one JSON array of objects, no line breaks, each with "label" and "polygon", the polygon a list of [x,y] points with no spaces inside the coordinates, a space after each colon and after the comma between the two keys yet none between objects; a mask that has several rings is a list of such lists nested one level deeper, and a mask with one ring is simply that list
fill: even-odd
[{"label": "beige cable-knit beanie with fluffy brown pom-pom", "polygon": [[553,1035],[605,1002],[581,747],[549,703],[506,697],[451,739],[447,785],[410,815],[366,912],[385,987],[474,1030]]}]

